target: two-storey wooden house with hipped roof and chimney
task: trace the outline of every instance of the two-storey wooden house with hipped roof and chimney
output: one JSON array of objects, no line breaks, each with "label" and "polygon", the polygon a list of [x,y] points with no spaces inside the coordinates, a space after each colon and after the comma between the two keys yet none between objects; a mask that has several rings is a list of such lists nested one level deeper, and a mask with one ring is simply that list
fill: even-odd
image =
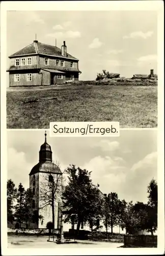
[{"label": "two-storey wooden house with hipped roof and chimney", "polygon": [[78,80],[78,59],[60,48],[37,40],[9,56],[9,86],[49,86]]}]

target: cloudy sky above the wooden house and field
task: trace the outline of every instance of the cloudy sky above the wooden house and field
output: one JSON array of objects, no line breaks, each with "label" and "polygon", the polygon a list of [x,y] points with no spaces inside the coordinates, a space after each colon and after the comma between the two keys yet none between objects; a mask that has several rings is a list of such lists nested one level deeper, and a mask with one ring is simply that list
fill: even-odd
[{"label": "cloudy sky above the wooden house and field", "polygon": [[[13,22],[14,20],[14,22]],[[103,69],[132,77],[157,73],[156,11],[8,11],[7,56],[37,40],[79,59],[80,80]]]}]

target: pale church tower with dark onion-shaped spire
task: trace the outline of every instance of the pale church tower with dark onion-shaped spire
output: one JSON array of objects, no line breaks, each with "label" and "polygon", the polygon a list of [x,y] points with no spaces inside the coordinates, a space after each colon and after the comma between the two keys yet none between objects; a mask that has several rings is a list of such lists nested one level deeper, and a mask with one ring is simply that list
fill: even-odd
[{"label": "pale church tower with dark onion-shaped spire", "polygon": [[[32,228],[59,228],[62,193],[62,172],[52,162],[52,151],[46,140],[39,151],[39,162],[32,168],[30,188],[33,191],[32,209],[34,212]],[[39,216],[43,216],[40,219]]]}]

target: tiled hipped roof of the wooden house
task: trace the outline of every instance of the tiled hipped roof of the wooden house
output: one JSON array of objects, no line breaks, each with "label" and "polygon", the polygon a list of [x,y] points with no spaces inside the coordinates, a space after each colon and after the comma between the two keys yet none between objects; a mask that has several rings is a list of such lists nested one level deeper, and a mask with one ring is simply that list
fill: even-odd
[{"label": "tiled hipped roof of the wooden house", "polygon": [[[26,55],[26,54],[45,54],[51,56],[58,56],[64,57],[61,54],[61,49],[56,46],[50,46],[46,44],[42,44],[42,42],[38,42],[37,40],[33,41],[33,43],[29,46],[24,47],[23,49],[17,51],[16,53],[9,56],[9,58],[19,56],[19,55]],[[78,60],[77,58],[73,57],[69,53],[67,53],[67,58]]]}]

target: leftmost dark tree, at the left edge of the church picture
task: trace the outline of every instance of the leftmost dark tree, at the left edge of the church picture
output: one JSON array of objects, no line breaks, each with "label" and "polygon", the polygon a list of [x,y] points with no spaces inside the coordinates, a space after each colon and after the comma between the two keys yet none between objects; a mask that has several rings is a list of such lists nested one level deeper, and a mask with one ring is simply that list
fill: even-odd
[{"label": "leftmost dark tree, at the left edge of the church picture", "polygon": [[16,198],[17,188],[15,187],[14,182],[10,179],[7,181],[7,219],[9,222],[13,222],[13,203]]}]

